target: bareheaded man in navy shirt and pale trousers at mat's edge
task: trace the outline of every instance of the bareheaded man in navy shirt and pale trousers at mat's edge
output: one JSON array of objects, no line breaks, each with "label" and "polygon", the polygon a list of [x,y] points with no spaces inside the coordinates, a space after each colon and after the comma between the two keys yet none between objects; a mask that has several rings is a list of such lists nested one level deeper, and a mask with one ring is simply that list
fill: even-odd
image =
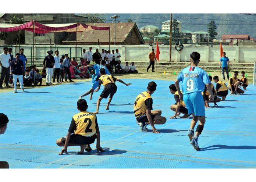
[{"label": "bareheaded man in navy shirt and pale trousers at mat's edge", "polygon": [[22,91],[24,91],[23,87],[23,75],[24,75],[24,65],[23,61],[19,60],[19,53],[15,54],[15,58],[13,62],[11,62],[10,74],[13,74],[13,85],[14,91],[13,93],[17,93],[17,78],[19,79],[19,83],[21,85]]}]

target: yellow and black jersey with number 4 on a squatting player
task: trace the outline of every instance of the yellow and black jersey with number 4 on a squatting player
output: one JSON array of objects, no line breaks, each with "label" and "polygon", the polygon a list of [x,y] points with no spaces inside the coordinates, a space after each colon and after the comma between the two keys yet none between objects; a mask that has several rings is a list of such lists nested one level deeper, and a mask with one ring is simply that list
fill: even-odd
[{"label": "yellow and black jersey with number 4 on a squatting player", "polygon": [[153,110],[153,99],[148,92],[140,93],[134,102],[134,114],[136,118],[146,115],[147,109]]}]

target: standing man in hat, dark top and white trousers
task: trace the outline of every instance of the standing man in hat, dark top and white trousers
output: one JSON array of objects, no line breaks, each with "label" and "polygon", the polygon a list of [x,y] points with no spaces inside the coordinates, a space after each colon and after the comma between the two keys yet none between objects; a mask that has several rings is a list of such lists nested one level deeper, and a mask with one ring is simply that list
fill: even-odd
[{"label": "standing man in hat, dark top and white trousers", "polygon": [[45,69],[46,62],[46,85],[52,85],[51,78],[53,77],[53,65],[55,63],[54,57],[51,55],[52,50],[47,51],[48,55],[43,60],[43,68]]}]

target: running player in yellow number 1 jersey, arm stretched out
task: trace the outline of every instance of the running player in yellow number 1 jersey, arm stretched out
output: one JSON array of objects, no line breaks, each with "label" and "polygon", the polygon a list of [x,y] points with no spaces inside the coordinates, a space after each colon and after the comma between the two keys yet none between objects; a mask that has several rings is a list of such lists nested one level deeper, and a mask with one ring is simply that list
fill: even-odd
[{"label": "running player in yellow number 1 jersey, arm stretched out", "polygon": [[102,93],[100,94],[97,100],[97,108],[96,108],[96,111],[94,112],[95,114],[99,113],[100,101],[103,98],[107,99],[108,96],[109,96],[109,101],[107,102],[106,110],[109,110],[109,104],[113,98],[113,95],[115,94],[115,92],[117,92],[117,86],[115,85],[115,81],[121,82],[126,86],[132,85],[132,83],[125,83],[121,79],[115,78],[112,75],[107,75],[106,70],[104,68],[100,69],[100,75],[101,76],[98,81],[99,86],[96,90],[94,90],[94,92],[98,92],[101,84],[104,86],[104,90],[102,91]]}]

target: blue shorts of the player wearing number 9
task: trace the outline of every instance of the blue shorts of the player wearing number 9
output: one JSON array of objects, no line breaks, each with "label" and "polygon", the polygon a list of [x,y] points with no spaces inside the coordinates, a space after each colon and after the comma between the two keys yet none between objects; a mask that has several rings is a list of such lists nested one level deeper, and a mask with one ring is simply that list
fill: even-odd
[{"label": "blue shorts of the player wearing number 9", "polygon": [[195,116],[205,116],[205,103],[201,92],[184,94],[183,101],[188,108],[188,114],[194,113]]}]

